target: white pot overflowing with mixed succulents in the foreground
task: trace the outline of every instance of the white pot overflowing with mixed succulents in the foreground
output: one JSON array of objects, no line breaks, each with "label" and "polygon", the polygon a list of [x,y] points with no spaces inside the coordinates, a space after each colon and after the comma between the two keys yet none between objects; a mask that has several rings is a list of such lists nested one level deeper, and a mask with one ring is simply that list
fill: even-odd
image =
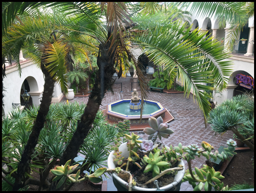
[{"label": "white pot overflowing with mixed succulents in the foreground", "polygon": [[[169,128],[170,125],[163,123],[161,117],[150,118],[148,122],[152,128],[147,127],[143,130],[149,135],[148,140],[139,140],[139,136],[134,133],[127,134],[129,120],[119,122],[115,146],[108,157],[110,170],[120,171],[122,169],[120,172],[113,173],[113,182],[119,191],[127,189],[129,191],[157,191],[159,189],[179,191],[183,181],[189,181],[195,191],[203,188],[210,191],[212,187],[216,191],[227,190],[228,187],[224,187],[223,182],[219,180],[224,178],[219,171],[207,165],[204,165],[202,169],[195,167],[193,171],[191,160],[195,159],[195,156],[204,156],[207,159],[212,157],[214,160],[217,160],[217,157],[221,160],[228,159],[236,154],[233,152],[236,145],[233,140],[227,142],[228,148],[224,148],[221,154],[218,151],[211,152],[214,148],[207,142],[202,142],[201,148],[195,144],[183,146],[181,143],[178,146],[167,147],[156,143],[156,140],[157,137],[168,138],[173,133]],[[188,162],[189,169],[186,171],[183,159]],[[171,181],[171,178],[174,181]],[[213,181],[216,184],[213,184]]]}]

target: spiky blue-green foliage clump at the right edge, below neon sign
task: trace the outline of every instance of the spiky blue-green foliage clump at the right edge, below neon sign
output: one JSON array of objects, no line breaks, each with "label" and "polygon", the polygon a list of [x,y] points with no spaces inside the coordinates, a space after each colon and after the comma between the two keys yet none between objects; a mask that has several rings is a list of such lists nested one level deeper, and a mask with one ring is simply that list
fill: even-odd
[{"label": "spiky blue-green foliage clump at the right edge, below neon sign", "polygon": [[208,123],[215,133],[231,130],[244,144],[254,151],[254,97],[234,96],[210,112]]}]

